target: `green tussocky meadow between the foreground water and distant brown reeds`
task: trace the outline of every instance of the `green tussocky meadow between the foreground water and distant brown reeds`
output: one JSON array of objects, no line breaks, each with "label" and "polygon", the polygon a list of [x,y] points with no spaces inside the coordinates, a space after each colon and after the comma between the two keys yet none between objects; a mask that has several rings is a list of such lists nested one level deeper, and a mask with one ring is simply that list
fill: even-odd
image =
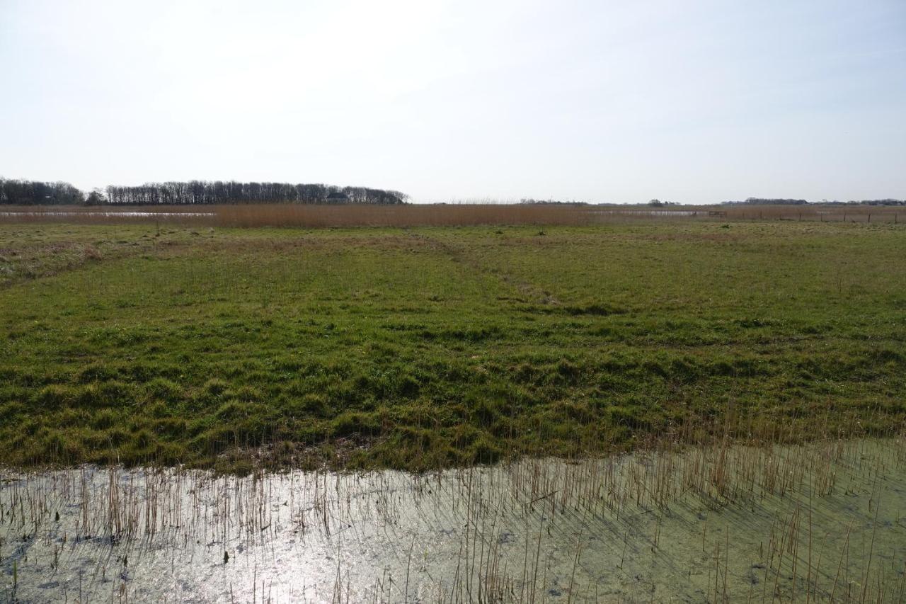
[{"label": "green tussocky meadow between the foreground water and distant brown reeds", "polygon": [[419,470],[728,414],[898,429],[903,250],[874,224],[0,225],[0,463]]}]

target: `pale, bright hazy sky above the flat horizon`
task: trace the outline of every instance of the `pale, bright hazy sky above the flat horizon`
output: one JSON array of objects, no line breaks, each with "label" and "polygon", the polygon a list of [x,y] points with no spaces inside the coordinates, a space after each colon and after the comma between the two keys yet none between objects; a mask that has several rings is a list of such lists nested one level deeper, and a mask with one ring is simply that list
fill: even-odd
[{"label": "pale, bright hazy sky above the flat horizon", "polygon": [[0,0],[0,176],[906,198],[904,0]]}]

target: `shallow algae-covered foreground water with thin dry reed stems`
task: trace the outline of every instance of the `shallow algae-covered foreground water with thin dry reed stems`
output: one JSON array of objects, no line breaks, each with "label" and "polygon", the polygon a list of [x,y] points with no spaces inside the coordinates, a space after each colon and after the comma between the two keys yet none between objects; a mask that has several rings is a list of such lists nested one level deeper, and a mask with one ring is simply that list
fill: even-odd
[{"label": "shallow algae-covered foreground water with thin dry reed stems", "polygon": [[0,601],[901,602],[906,443],[0,484]]}]

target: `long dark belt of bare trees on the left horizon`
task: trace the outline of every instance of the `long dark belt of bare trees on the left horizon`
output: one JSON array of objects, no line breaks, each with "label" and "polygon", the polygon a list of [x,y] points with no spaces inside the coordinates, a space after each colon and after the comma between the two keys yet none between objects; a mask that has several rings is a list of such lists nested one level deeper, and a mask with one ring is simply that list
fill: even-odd
[{"label": "long dark belt of bare trees on the left horizon", "polygon": [[0,204],[122,205],[229,204],[229,203],[373,203],[400,204],[409,196],[398,190],[368,187],[335,187],[284,182],[235,182],[190,180],[149,182],[136,187],[111,185],[87,196],[68,182],[0,179]]}]

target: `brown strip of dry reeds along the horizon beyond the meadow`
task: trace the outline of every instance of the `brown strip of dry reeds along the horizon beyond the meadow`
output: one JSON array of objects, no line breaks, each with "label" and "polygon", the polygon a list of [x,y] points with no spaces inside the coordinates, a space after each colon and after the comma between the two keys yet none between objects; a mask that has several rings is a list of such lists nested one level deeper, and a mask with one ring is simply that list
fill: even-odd
[{"label": "brown strip of dry reeds along the horizon beyond the meadow", "polygon": [[651,220],[798,220],[899,224],[906,209],[874,206],[640,206],[411,204],[10,207],[0,221],[76,224],[157,223],[197,227],[587,226]]}]

